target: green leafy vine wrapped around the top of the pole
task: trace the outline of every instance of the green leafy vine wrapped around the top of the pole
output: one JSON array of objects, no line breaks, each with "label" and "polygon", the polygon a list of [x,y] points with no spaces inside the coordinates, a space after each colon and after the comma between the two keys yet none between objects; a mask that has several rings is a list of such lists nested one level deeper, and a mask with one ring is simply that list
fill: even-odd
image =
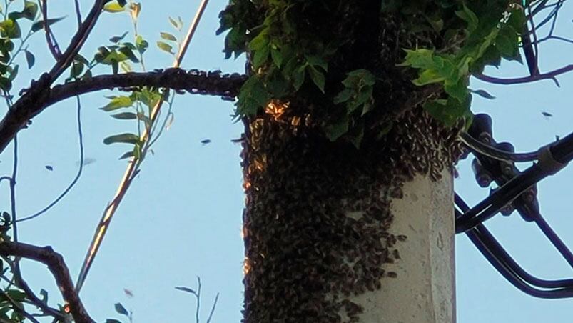
[{"label": "green leafy vine wrapped around the top of the pole", "polygon": [[[288,101],[295,93],[299,98],[320,96],[321,102],[328,102],[317,112],[325,116],[320,124],[325,135],[333,141],[344,137],[358,146],[367,119],[380,118],[372,111],[387,103],[380,98],[390,77],[382,71],[384,63],[409,75],[415,86],[440,85],[440,94],[422,102],[436,119],[449,126],[471,119],[470,75],[480,74],[486,65],[499,65],[501,59],[520,61],[528,2],[381,1],[375,5],[377,14],[368,16],[375,21],[367,23],[375,28],[397,21],[399,54],[390,61],[372,56],[372,61],[342,64],[337,56],[348,54],[349,48],[358,49],[353,31],[360,26],[338,22],[352,19],[358,1],[230,0],[220,14],[218,30],[219,34],[228,31],[225,56],[247,53],[250,61],[250,77],[238,96],[237,114],[258,114],[270,100]],[[362,33],[369,37],[367,31]],[[377,44],[375,50],[385,45]]]}]

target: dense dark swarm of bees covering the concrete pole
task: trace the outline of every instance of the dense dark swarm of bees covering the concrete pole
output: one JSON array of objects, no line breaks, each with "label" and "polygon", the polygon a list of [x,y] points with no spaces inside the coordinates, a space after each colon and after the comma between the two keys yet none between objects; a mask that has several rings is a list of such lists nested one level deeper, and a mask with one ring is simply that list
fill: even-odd
[{"label": "dense dark swarm of bees covering the concrete pole", "polygon": [[397,276],[385,264],[407,237],[389,232],[392,198],[415,174],[440,179],[457,131],[411,109],[357,150],[293,111],[275,101],[245,119],[243,322],[358,322],[352,297]]}]

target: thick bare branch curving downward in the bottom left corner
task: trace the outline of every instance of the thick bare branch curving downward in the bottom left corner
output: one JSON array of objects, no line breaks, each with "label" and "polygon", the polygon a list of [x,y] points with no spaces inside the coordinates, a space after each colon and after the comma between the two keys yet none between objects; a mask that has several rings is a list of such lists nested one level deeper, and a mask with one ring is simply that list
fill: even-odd
[{"label": "thick bare branch curving downward in the bottom left corner", "polygon": [[69,313],[76,323],[93,323],[83,307],[71,281],[70,272],[61,254],[54,252],[51,247],[36,247],[21,242],[0,242],[0,255],[3,257],[21,257],[46,264],[56,279],[61,296],[68,305]]}]

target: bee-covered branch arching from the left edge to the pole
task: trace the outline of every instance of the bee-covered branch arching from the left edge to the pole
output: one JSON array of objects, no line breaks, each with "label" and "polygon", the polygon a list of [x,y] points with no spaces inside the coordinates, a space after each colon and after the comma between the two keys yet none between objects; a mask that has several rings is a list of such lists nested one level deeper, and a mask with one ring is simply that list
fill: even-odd
[{"label": "bee-covered branch arching from the left edge to the pole", "polygon": [[44,74],[39,81],[33,81],[0,121],[0,153],[14,138],[14,135],[26,127],[26,123],[51,104],[68,99],[71,96],[86,94],[102,89],[129,88],[133,86],[152,86],[169,88],[176,91],[185,90],[191,94],[223,96],[230,99],[237,95],[238,89],[245,81],[240,74],[221,75],[218,72],[205,72],[192,69],[157,70],[147,73],[126,73],[116,75],[94,76],[66,84],[49,84],[50,74]]}]

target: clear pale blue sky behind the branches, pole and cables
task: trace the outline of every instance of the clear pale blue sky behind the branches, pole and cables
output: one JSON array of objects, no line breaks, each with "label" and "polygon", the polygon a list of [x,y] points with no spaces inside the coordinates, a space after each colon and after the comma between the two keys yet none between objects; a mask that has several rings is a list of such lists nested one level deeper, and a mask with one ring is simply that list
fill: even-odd
[{"label": "clear pale blue sky behind the branches, pole and cables", "polygon": [[[16,1],[18,3],[19,1]],[[92,1],[83,2],[85,13]],[[188,26],[199,1],[142,1],[139,31],[150,44],[146,54],[148,69],[171,66],[172,58],[154,43],[160,31],[174,32],[168,16],[181,16]],[[50,3],[50,15],[67,16],[54,25],[61,46],[76,28],[73,1]],[[17,6],[18,4],[14,4]],[[211,1],[203,16],[184,68],[244,70],[244,56],[223,59],[223,36],[215,36],[218,12],[225,1]],[[85,16],[85,14],[84,14]],[[557,34],[573,36],[573,8],[564,6]],[[81,53],[90,58],[98,46],[109,44],[111,36],[130,31],[127,14],[103,14]],[[568,33],[568,34],[567,34]],[[569,64],[573,45],[553,43],[542,46],[540,67],[548,71]],[[38,33],[29,48],[36,54],[31,71],[20,57],[21,69],[15,89],[27,86],[31,77],[54,63],[44,36]],[[109,73],[100,69],[99,73]],[[487,69],[498,76],[523,76],[527,69],[504,62],[502,69]],[[537,149],[573,131],[571,111],[573,75],[559,77],[561,88],[551,81],[522,86],[492,86],[472,81],[472,88],[487,89],[495,100],[476,98],[474,112],[485,111],[494,119],[497,141],[512,141],[518,151]],[[17,91],[15,91],[17,92]],[[82,97],[83,134],[86,158],[94,159],[83,169],[76,187],[56,207],[19,228],[23,242],[51,245],[64,254],[73,277],[79,272],[93,230],[103,209],[116,191],[126,167],[119,161],[126,147],[106,146],[103,138],[133,130],[130,121],[112,119],[98,108],[106,104],[100,92]],[[77,172],[78,136],[75,100],[51,106],[34,119],[29,129],[19,134],[19,176],[17,202],[19,217],[33,214],[49,204],[71,182]],[[6,108],[0,109],[4,114]],[[545,118],[542,111],[553,114]],[[149,155],[141,174],[133,182],[108,231],[86,284],[81,292],[88,311],[98,321],[116,317],[113,304],[122,302],[133,310],[134,322],[194,322],[195,300],[174,287],[196,287],[203,282],[202,322],[213,298],[220,292],[212,322],[239,322],[242,304],[243,242],[240,239],[244,197],[241,188],[240,146],[230,139],[240,136],[241,124],[230,118],[233,105],[215,97],[178,96],[175,119]],[[203,145],[203,139],[211,143]],[[12,147],[0,155],[0,174],[11,173]],[[455,187],[467,202],[475,204],[488,194],[477,187],[470,159],[460,163],[460,178]],[[51,165],[53,171],[46,169]],[[524,165],[524,167],[527,165]],[[573,246],[572,189],[573,170],[539,184],[542,214],[566,243]],[[0,187],[0,207],[6,209],[9,191]],[[534,224],[517,215],[497,216],[487,222],[502,244],[532,274],[545,278],[573,277],[557,252]],[[545,300],[529,297],[504,281],[477,252],[465,236],[456,239],[457,319],[460,323],[482,322],[571,322],[573,299]],[[49,290],[51,304],[59,299],[49,272],[41,265],[24,262],[24,277],[36,291]],[[123,289],[133,292],[128,297]]]}]

